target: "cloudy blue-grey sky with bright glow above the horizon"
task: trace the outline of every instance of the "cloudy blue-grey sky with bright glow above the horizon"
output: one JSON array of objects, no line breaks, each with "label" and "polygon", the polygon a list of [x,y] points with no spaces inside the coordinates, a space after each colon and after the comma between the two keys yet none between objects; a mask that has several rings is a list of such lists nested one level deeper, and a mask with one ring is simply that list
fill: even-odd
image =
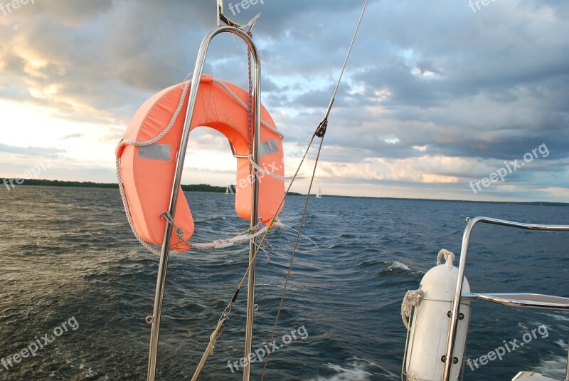
[{"label": "cloudy blue-grey sky with bright glow above the horizon", "polygon": [[[0,177],[44,163],[41,178],[116,182],[129,119],[186,78],[216,25],[215,0],[0,1]],[[234,21],[262,14],[262,102],[293,172],[363,0],[235,4],[225,0]],[[569,202],[568,36],[566,0],[370,0],[315,184],[324,194]],[[246,86],[246,62],[243,43],[220,36],[206,73]],[[227,140],[192,132],[183,182],[234,176]]]}]

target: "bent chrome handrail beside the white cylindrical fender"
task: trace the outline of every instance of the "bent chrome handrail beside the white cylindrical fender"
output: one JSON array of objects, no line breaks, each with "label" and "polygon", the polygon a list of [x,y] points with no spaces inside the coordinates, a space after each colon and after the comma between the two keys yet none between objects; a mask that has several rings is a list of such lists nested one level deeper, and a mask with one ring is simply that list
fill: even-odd
[{"label": "bent chrome handrail beside the white cylindrical fender", "polygon": [[[450,379],[450,368],[452,367],[452,358],[453,358],[452,353],[454,352],[454,340],[456,339],[457,336],[457,324],[458,324],[458,315],[459,315],[458,310],[462,298],[462,283],[464,283],[464,270],[467,264],[470,233],[472,232],[472,228],[474,228],[474,225],[478,224],[479,222],[482,222],[484,224],[509,226],[518,229],[541,230],[541,231],[569,231],[569,225],[523,224],[521,222],[506,221],[504,219],[493,219],[489,217],[475,217],[474,219],[467,219],[467,226],[464,228],[464,234],[462,235],[462,249],[460,251],[457,288],[454,291],[454,298],[452,299],[451,317],[450,317],[451,322],[449,324],[449,333],[447,336],[447,349],[445,353],[446,359],[445,359],[445,368],[442,372],[442,381],[449,381]],[[566,379],[569,378],[569,365],[567,373],[568,374],[565,377]]]}]

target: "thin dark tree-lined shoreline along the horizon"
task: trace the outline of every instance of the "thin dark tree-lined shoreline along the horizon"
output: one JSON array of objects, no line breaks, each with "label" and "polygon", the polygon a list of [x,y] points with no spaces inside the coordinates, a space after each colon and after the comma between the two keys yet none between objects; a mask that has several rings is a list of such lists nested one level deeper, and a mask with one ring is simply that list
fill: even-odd
[{"label": "thin dark tree-lined shoreline along the horizon", "polygon": [[[4,183],[6,177],[0,177],[0,187]],[[12,179],[14,181],[14,179]],[[119,184],[105,182],[72,182],[60,180],[44,180],[44,179],[23,179],[23,184],[28,186],[44,186],[44,187],[70,187],[70,188],[100,188],[100,189],[119,189]],[[18,187],[20,185],[17,185]],[[208,184],[190,184],[182,185],[185,192],[207,192],[207,193],[225,193],[225,187],[216,187]],[[233,185],[235,189],[235,185]],[[289,196],[306,196],[306,194],[289,192]],[[394,200],[418,200],[418,201],[445,201],[445,202],[486,202],[493,204],[519,204],[519,205],[542,205],[546,207],[569,207],[567,202],[541,202],[541,201],[475,201],[475,200],[452,200],[452,199],[413,199],[405,197],[368,197],[368,196],[338,196],[326,194],[323,198],[358,198],[358,199],[394,199]]]}]

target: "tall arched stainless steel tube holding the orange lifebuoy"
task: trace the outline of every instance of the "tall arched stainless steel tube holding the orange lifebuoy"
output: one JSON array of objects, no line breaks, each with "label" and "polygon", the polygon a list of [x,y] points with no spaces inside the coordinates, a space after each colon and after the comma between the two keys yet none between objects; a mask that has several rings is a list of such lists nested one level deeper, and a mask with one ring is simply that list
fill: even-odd
[{"label": "tall arched stainless steel tube holding the orange lifebuoy", "polygon": [[[178,200],[179,187],[181,183],[181,176],[184,169],[184,157],[186,155],[186,149],[188,147],[188,137],[190,135],[191,120],[193,118],[193,110],[196,107],[196,100],[198,98],[198,90],[200,85],[201,74],[203,72],[203,64],[206,61],[206,54],[208,52],[209,44],[213,37],[220,33],[233,33],[245,41],[250,48],[250,51],[254,60],[255,68],[255,85],[252,90],[253,107],[255,108],[254,120],[255,120],[255,134],[253,139],[253,160],[255,163],[259,163],[259,145],[260,145],[260,110],[261,110],[261,61],[259,56],[259,51],[255,43],[253,43],[250,36],[244,31],[235,28],[233,26],[218,26],[213,28],[201,41],[201,45],[198,51],[198,58],[196,59],[196,66],[193,69],[191,90],[188,101],[188,108],[186,109],[186,120],[184,122],[184,134],[182,135],[182,140],[180,143],[180,149],[178,151],[178,157],[176,160],[176,172],[174,174],[174,184],[172,186],[172,192],[170,197],[169,213],[174,218],[176,214],[176,202]],[[257,201],[259,198],[259,177],[255,168],[253,170],[253,184],[251,189],[252,197],[252,210],[251,210],[251,227],[257,224]],[[169,259],[169,244],[171,240],[172,226],[166,224],[166,231],[164,232],[164,243],[162,244],[162,251],[160,254],[160,263],[158,268],[158,278],[156,279],[156,293],[154,295],[154,312],[152,314],[152,327],[150,335],[150,350],[148,358],[148,372],[147,380],[154,381],[156,375],[156,354],[158,352],[158,337],[160,328],[160,318],[162,314],[162,301],[164,298],[164,285],[166,283],[166,268],[168,267]],[[250,253],[249,261],[251,262],[254,257],[255,242],[250,242]],[[248,276],[248,301],[247,301],[247,327],[245,329],[245,358],[249,358],[251,353],[251,342],[252,342],[252,321],[253,321],[253,306],[255,304],[255,262],[250,266],[249,276]],[[243,368],[243,380],[249,380],[249,364],[246,364]],[[246,376],[246,378],[245,378]]]}]

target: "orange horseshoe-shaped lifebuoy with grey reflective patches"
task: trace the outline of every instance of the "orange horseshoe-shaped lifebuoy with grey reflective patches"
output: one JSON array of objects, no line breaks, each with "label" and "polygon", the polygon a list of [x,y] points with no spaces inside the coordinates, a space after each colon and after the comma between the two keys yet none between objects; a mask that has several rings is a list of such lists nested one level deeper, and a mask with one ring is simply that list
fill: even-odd
[{"label": "orange horseshoe-shaped lifebuoy with grey reflective patches", "polygon": [[[146,147],[137,147],[124,142],[149,141],[164,132],[166,126],[173,120],[176,108],[179,108],[186,84],[171,86],[149,98],[132,118],[121,140],[122,143],[117,147],[117,160],[119,160],[117,170],[122,178],[133,229],[136,229],[144,241],[158,245],[164,241],[166,221],[161,219],[161,213],[169,209],[189,90],[181,108],[183,111],[164,137]],[[189,88],[190,85],[187,85]],[[245,156],[237,159],[235,192],[235,210],[243,219],[251,218],[252,176],[247,158],[250,155],[249,113],[245,106],[248,104],[248,96],[248,91],[233,83],[214,80],[211,75],[203,75],[190,129],[206,126],[218,130],[235,147],[237,155]],[[282,176],[285,172],[282,135],[277,131],[275,122],[265,107],[261,110],[261,120],[263,123],[260,133],[259,165],[266,172]],[[258,214],[267,224],[282,210],[280,202],[285,194],[285,184],[282,179],[265,175],[264,172],[260,172],[259,177]],[[183,194],[180,189],[180,196]],[[186,197],[178,197],[174,221],[184,230],[184,240],[188,241],[193,234],[194,226]],[[179,242],[176,232],[173,232],[172,237],[170,243],[172,248],[177,251],[191,249],[188,244]]]}]

